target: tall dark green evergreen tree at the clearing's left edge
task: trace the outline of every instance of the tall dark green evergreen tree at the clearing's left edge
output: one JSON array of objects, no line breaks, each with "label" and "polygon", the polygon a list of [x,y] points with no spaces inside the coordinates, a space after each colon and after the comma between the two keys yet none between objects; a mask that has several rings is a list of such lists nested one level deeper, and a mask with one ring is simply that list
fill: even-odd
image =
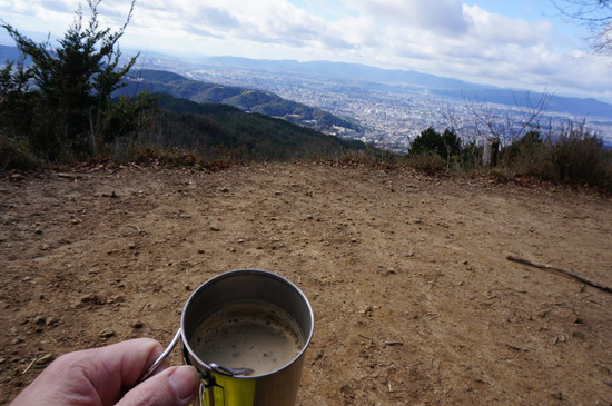
[{"label": "tall dark green evergreen tree at the clearing's left edge", "polygon": [[[146,96],[136,102],[125,98],[112,102],[112,92],[124,86],[122,78],[138,57],[119,67],[118,41],[131,18],[134,2],[117,32],[100,29],[100,2],[88,0],[87,23],[82,10],[77,10],[73,23],[57,48],[49,40],[37,43],[10,24],[1,24],[22,56],[32,61],[29,69],[22,65],[13,69],[9,63],[2,71],[0,92],[11,96],[0,99],[2,116],[8,112],[10,118],[0,122],[1,130],[27,137],[32,151],[47,161],[98,155],[117,137],[138,130],[147,121],[140,120],[142,111],[152,106]],[[31,91],[27,88],[30,79]]]}]

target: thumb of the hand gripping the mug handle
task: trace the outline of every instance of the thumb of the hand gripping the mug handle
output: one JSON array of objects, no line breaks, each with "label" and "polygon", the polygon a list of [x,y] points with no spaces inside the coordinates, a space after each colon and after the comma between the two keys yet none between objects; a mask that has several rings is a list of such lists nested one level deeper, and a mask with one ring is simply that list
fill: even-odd
[{"label": "thumb of the hand gripping the mug handle", "polygon": [[131,388],[116,406],[187,406],[199,385],[193,366],[170,367]]}]

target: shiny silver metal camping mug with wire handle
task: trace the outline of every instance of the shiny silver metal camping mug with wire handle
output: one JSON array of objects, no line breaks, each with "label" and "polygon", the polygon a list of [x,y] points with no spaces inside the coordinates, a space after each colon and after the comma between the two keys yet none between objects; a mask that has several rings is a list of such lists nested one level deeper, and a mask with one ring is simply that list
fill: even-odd
[{"label": "shiny silver metal camping mug with wire handle", "polygon": [[[193,348],[194,335],[206,318],[241,303],[263,303],[288,314],[302,329],[304,346],[289,363],[267,374],[249,376],[243,370],[206,364]],[[141,378],[146,379],[181,340],[184,360],[201,378],[199,400],[206,406],[292,406],[295,404],[304,356],[314,331],[314,315],[306,296],[289,280],[265,270],[238,269],[218,275],[197,288],[185,305],[180,329],[166,351]]]}]

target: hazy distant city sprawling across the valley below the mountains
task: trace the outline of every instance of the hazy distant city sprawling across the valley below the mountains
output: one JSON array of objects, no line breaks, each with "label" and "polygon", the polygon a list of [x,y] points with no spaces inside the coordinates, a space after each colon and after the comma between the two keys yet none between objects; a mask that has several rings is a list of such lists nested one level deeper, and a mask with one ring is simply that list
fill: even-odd
[{"label": "hazy distant city sprawling across the valley below the mountains", "polygon": [[[187,63],[168,58],[149,58],[145,67],[170,70],[195,80],[264,90],[327,110],[366,129],[364,132],[355,133],[349,129],[336,127],[329,131],[335,136],[359,139],[375,143],[379,148],[401,152],[405,152],[411,140],[428,127],[437,131],[453,128],[460,137],[471,138],[464,141],[480,141],[490,136],[487,125],[491,123],[496,127],[512,123],[517,127],[517,133],[542,101],[540,96],[531,96],[531,99],[526,100],[531,107],[521,107],[520,103],[525,100],[516,100],[515,106],[509,106],[471,100],[468,97],[444,97],[427,88],[409,83],[379,83],[367,79],[358,80],[349,75],[343,79],[337,75],[327,76],[320,71],[304,73],[276,68],[269,61],[257,65],[257,61],[249,61],[253,66],[245,66],[233,62],[231,59]],[[526,95],[525,92],[525,99]],[[612,110],[610,113],[612,116]],[[570,121],[581,123],[583,120],[589,130],[596,132],[612,147],[610,117],[586,119],[544,109],[537,118],[537,122],[545,129],[566,126]]]}]

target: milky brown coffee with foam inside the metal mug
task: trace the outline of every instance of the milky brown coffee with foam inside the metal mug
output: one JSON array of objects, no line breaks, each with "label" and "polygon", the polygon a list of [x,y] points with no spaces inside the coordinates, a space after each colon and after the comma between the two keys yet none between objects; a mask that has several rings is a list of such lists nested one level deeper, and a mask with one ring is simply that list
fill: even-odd
[{"label": "milky brown coffee with foam inside the metal mug", "polygon": [[250,368],[264,375],[289,364],[304,347],[299,325],[283,309],[264,303],[228,306],[207,317],[190,343],[204,363]]}]

